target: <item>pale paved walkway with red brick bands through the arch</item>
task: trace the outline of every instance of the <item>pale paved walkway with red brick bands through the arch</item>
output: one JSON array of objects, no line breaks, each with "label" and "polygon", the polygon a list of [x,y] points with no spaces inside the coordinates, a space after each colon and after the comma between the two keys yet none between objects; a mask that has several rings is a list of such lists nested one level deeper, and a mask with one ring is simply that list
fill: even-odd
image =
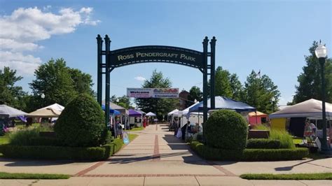
[{"label": "pale paved walkway with red brick bands through the arch", "polygon": [[332,172],[332,159],[286,162],[209,162],[174,137],[166,124],[152,124],[103,162],[0,158],[0,171],[67,173],[69,180],[0,180],[0,185],[332,185],[332,180],[242,180],[242,173]]}]

